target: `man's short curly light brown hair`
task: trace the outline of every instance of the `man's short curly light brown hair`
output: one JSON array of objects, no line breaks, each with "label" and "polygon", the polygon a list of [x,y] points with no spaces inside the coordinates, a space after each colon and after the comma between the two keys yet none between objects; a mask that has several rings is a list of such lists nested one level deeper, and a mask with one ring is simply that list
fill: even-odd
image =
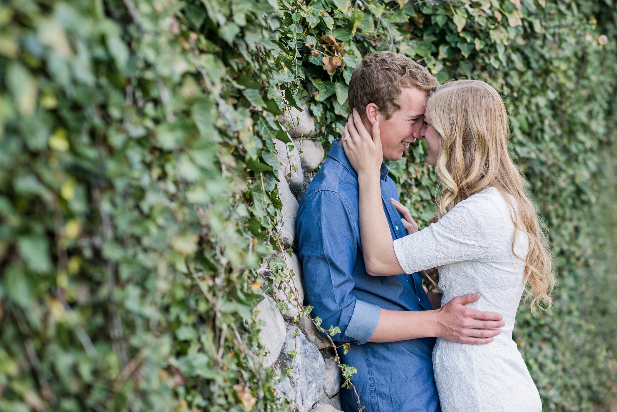
[{"label": "man's short curly light brown hair", "polygon": [[428,96],[437,86],[435,76],[409,57],[387,51],[372,53],[354,68],[347,102],[349,110],[355,107],[362,117],[366,115],[366,106],[375,103],[389,119],[400,109],[398,100],[403,88],[415,87]]}]

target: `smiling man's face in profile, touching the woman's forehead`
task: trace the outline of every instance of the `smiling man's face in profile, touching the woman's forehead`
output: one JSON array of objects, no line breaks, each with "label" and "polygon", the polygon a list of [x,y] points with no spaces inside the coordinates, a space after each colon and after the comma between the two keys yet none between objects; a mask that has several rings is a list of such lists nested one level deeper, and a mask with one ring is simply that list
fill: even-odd
[{"label": "smiling man's face in profile, touching the woman's forehead", "polygon": [[386,118],[377,113],[381,146],[385,160],[399,160],[417,138],[424,121],[426,93],[416,88],[402,89],[399,97],[400,109]]}]

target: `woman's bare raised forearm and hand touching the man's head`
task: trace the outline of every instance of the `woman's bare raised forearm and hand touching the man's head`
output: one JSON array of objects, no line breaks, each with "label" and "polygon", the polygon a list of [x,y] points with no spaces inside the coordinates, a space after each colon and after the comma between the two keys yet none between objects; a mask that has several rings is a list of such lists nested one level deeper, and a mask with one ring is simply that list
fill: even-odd
[{"label": "woman's bare raised forearm and hand touching the man's head", "polygon": [[[341,139],[347,159],[358,175],[360,241],[366,273],[390,276],[403,273],[394,254],[394,244],[381,200],[380,171],[383,162],[379,123],[373,123],[373,136],[366,131],[354,109]],[[347,134],[346,134],[347,133]]]}]

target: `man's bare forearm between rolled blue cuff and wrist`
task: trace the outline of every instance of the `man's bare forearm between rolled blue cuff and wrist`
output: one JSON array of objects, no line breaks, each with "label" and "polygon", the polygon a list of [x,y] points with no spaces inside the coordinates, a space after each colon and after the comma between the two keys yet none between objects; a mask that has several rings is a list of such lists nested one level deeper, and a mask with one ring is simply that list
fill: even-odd
[{"label": "man's bare forearm between rolled blue cuff and wrist", "polygon": [[437,336],[440,336],[440,334],[436,311],[404,311],[382,308],[375,332],[368,342],[398,342],[399,340]]}]

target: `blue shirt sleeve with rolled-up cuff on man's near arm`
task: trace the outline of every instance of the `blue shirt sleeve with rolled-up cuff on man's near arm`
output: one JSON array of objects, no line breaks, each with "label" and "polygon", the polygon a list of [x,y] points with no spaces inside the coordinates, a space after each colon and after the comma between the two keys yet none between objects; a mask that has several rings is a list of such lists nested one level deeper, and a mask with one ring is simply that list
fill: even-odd
[{"label": "blue shirt sleeve with rolled-up cuff on man's near arm", "polygon": [[333,340],[364,344],[375,332],[381,308],[356,299],[353,292],[356,227],[341,194],[322,190],[302,199],[296,231],[311,315],[319,316],[326,330],[341,329]]}]

